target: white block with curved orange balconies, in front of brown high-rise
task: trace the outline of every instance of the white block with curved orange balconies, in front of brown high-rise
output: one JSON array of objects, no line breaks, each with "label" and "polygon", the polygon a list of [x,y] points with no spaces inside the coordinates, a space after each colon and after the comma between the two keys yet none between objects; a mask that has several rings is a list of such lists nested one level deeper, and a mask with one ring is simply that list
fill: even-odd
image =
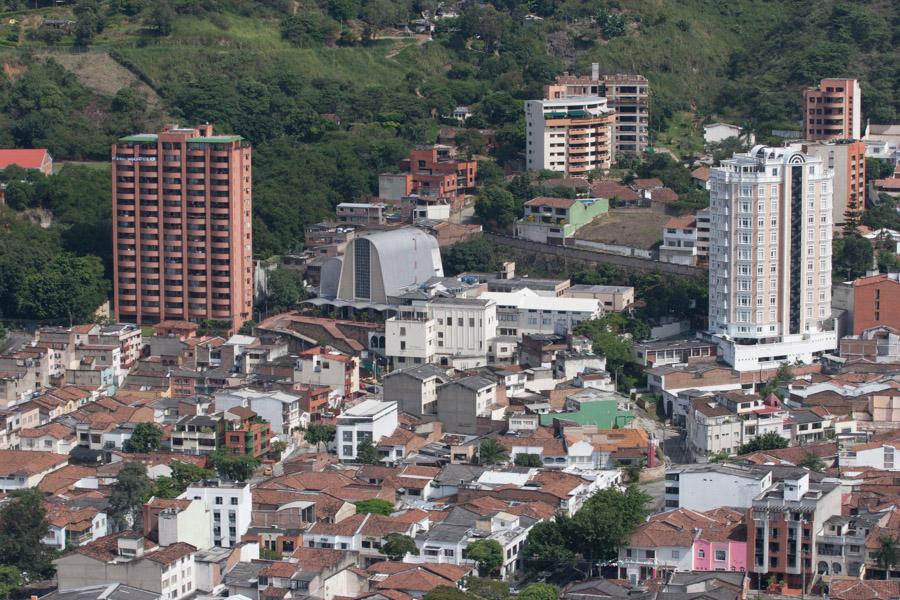
[{"label": "white block with curved orange balconies, in front of brown high-rise", "polygon": [[614,120],[615,111],[600,96],[528,100],[526,167],[582,176],[609,170]]}]

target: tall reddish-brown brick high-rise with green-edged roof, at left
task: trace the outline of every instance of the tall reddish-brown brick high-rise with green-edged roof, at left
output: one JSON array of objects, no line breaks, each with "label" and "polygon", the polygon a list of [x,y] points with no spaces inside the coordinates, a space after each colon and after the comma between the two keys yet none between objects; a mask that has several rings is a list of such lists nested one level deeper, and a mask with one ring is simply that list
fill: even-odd
[{"label": "tall reddish-brown brick high-rise with green-edged roof, at left", "polygon": [[251,317],[251,148],[211,125],[112,146],[117,321]]}]

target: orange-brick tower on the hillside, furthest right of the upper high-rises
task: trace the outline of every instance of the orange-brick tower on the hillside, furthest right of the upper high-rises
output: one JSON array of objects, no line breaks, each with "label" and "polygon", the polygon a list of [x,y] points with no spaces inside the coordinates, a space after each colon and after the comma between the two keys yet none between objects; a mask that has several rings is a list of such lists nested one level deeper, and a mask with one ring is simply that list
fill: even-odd
[{"label": "orange-brick tower on the hillside, furthest right of the upper high-rises", "polygon": [[855,79],[823,79],[803,90],[805,137],[808,140],[860,138],[862,93]]}]

